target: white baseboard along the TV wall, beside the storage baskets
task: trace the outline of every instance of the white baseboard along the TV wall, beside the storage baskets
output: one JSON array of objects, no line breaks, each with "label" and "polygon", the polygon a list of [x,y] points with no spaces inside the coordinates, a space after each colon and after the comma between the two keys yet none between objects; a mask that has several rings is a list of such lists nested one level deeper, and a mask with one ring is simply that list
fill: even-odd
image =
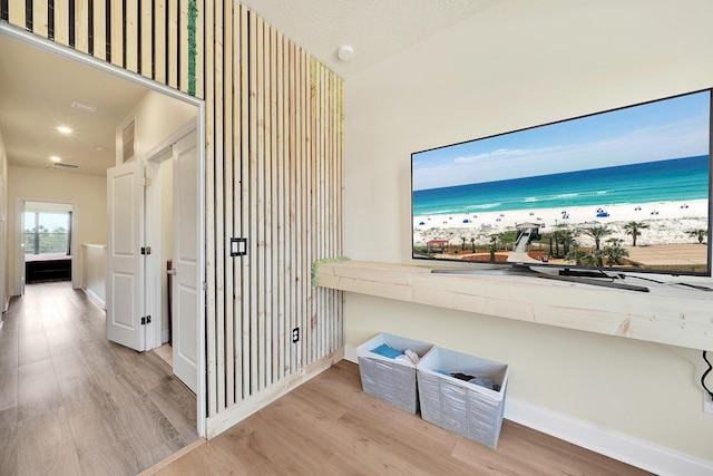
[{"label": "white baseboard along the TV wall, beside the storage baskets", "polygon": [[[359,363],[356,348],[345,346],[344,359]],[[713,462],[602,428],[588,421],[578,420],[510,397],[507,397],[505,402],[505,418],[661,476],[713,475]]]}]

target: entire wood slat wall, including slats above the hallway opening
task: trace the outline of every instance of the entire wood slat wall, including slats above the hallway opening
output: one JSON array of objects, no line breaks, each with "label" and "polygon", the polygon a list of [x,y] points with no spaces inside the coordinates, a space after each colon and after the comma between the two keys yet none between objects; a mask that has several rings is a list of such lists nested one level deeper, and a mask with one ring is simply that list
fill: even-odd
[{"label": "entire wood slat wall, including slats above the hallway opening", "polygon": [[[28,13],[10,0],[7,21],[188,91],[187,0],[72,3],[35,0]],[[310,273],[343,253],[343,84],[237,0],[197,9],[212,417],[343,347],[342,294]],[[247,239],[246,256],[229,256],[232,236]]]}]

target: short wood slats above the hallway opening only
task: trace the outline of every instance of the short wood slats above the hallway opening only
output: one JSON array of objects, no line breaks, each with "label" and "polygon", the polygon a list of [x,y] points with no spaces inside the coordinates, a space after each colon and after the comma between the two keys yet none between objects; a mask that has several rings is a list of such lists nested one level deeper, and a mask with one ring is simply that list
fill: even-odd
[{"label": "short wood slats above the hallway opening only", "polygon": [[[196,87],[195,96],[202,99],[206,71],[203,68],[204,1],[196,2],[199,45],[195,79],[201,87]],[[7,21],[188,93],[188,0],[32,0],[28,8],[26,0],[9,0]]]}]

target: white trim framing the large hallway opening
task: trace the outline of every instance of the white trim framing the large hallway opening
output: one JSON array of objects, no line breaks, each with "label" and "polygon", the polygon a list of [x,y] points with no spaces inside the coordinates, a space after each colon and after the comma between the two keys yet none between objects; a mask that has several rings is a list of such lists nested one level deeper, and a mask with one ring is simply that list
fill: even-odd
[{"label": "white trim framing the large hallway opening", "polygon": [[50,41],[46,38],[39,37],[37,35],[25,31],[20,28],[10,26],[7,22],[0,21],[0,35],[10,37],[17,41],[21,41],[25,45],[28,45],[32,48],[39,48],[43,51],[50,52],[52,55],[57,55],[65,59],[76,61],[80,65],[88,66],[90,68],[98,69],[104,72],[108,72],[118,78],[126,79],[127,81],[140,85],[146,87],[147,89],[155,90],[168,97],[182,100],[189,105],[193,105],[197,109],[196,116],[196,138],[198,143],[198,174],[199,174],[199,203],[198,203],[198,213],[199,213],[199,222],[201,227],[198,230],[198,247],[202,252],[198,255],[199,263],[198,269],[201,270],[199,283],[202,283],[204,288],[204,292],[199,293],[198,298],[201,300],[199,308],[204,310],[202,319],[198,320],[198,391],[196,392],[196,429],[198,436],[206,436],[206,419],[207,419],[207,387],[206,387],[206,348],[205,348],[205,334],[206,334],[206,292],[205,292],[205,283],[206,283],[206,256],[205,256],[205,115],[206,107],[205,100],[198,99],[193,96],[188,96],[185,93],[182,93],[176,89],[172,89],[168,86],[156,82],[152,79],[145,78],[140,75],[130,72],[126,69],[119,68],[106,61],[101,61],[97,58],[94,58],[89,55],[81,54],[76,51],[69,47],[57,45],[53,41]]}]

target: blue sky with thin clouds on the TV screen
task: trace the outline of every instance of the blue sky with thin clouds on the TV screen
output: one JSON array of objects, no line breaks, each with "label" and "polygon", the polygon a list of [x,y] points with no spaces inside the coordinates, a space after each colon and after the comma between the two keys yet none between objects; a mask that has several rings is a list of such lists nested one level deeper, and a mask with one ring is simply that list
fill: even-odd
[{"label": "blue sky with thin clouds on the TV screen", "polygon": [[709,154],[710,94],[596,114],[413,154],[413,190]]}]

